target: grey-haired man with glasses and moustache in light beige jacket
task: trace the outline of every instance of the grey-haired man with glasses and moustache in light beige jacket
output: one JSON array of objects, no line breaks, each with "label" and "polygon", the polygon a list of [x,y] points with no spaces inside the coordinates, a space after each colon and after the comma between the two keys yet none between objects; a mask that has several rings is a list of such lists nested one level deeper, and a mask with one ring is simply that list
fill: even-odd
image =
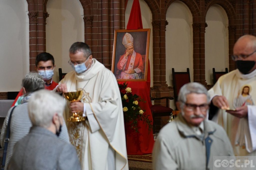
[{"label": "grey-haired man with glasses and moustache in light beige jacket", "polygon": [[199,83],[185,84],[177,107],[178,117],[164,126],[153,149],[154,170],[213,169],[213,156],[233,156],[224,129],[205,119],[210,97]]}]

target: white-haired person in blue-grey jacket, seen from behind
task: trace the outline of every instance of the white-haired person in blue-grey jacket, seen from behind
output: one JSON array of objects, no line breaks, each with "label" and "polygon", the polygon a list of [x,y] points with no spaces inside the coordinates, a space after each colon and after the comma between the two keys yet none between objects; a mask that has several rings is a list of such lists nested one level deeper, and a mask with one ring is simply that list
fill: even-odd
[{"label": "white-haired person in blue-grey jacket, seen from behind", "polygon": [[80,170],[75,148],[60,140],[65,101],[49,90],[39,90],[28,102],[32,127],[14,146],[10,170]]}]

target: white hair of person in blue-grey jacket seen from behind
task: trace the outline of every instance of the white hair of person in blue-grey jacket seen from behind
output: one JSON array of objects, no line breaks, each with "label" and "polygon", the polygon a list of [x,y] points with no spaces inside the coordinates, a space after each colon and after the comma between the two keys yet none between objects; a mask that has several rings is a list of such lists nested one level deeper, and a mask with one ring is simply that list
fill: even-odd
[{"label": "white hair of person in blue-grey jacket seen from behind", "polygon": [[39,90],[34,92],[28,102],[29,118],[33,125],[48,128],[55,113],[60,118],[65,109],[65,100],[50,90]]}]

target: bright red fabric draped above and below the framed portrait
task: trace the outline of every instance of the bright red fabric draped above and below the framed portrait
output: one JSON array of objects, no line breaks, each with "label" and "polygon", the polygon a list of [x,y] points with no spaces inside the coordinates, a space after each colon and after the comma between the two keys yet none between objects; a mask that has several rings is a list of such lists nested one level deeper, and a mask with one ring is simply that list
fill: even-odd
[{"label": "bright red fabric draped above and below the framed portrait", "polygon": [[[129,21],[127,23],[127,30],[143,29],[140,3],[139,0],[134,0],[131,8]],[[144,114],[148,115],[148,118],[153,123],[153,117],[151,113],[151,100],[150,100],[150,63],[148,60],[147,81],[128,81],[127,87],[132,89],[132,94],[137,94],[145,102],[140,102],[140,107],[145,110]],[[124,82],[118,82],[120,84]],[[125,123],[126,130],[126,147],[128,155],[142,155],[152,153],[154,146],[153,130],[150,131],[146,123],[138,121],[139,133],[130,129],[129,123]]]}]

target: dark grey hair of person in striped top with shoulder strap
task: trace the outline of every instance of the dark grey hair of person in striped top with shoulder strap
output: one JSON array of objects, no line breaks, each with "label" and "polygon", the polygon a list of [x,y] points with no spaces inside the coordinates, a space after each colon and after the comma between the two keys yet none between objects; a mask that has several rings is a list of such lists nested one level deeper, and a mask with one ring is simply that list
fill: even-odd
[{"label": "dark grey hair of person in striped top with shoulder strap", "polygon": [[35,72],[28,73],[24,79],[22,79],[22,86],[26,90],[26,95],[31,92],[44,89],[45,82],[42,77]]}]

